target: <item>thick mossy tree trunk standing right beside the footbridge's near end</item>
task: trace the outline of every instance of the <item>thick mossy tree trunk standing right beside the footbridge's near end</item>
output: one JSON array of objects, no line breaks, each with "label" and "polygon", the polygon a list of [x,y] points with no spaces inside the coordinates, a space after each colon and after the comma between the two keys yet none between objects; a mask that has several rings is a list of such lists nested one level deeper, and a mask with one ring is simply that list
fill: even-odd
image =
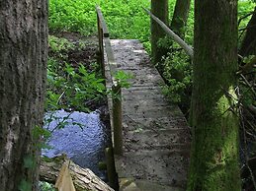
[{"label": "thick mossy tree trunk standing right beside the footbridge's near end", "polygon": [[192,153],[189,191],[240,191],[237,0],[195,1]]}]

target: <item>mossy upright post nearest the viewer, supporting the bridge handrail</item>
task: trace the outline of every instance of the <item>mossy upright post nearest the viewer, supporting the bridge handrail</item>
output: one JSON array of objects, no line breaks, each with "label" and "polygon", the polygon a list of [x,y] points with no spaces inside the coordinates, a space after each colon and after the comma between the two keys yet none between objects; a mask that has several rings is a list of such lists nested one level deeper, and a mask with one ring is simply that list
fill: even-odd
[{"label": "mossy upright post nearest the viewer, supporting the bridge handrail", "polygon": [[113,85],[113,126],[114,126],[114,153],[123,154],[123,126],[122,126],[122,93],[120,85]]}]

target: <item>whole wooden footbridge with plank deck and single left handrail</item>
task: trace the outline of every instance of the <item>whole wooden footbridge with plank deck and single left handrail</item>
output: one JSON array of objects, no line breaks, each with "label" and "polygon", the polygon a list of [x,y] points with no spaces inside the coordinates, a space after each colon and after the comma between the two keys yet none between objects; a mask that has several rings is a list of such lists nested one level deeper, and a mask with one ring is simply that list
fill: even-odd
[{"label": "whole wooden footbridge with plank deck and single left handrail", "polygon": [[[114,149],[106,149],[110,185],[124,191],[183,190],[190,153],[186,119],[162,95],[164,82],[141,43],[110,39],[100,8],[96,10],[99,62],[112,90],[108,102]],[[121,87],[118,71],[133,75],[130,88]]]}]

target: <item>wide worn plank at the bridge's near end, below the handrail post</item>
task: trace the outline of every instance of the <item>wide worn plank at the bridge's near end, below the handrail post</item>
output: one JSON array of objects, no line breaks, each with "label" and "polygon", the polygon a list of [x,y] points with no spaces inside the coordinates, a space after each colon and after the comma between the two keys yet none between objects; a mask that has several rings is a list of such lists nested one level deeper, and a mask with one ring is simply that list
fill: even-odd
[{"label": "wide worn plank at the bridge's near end, below the handrail post", "polygon": [[[138,151],[116,156],[116,169],[119,177],[135,177],[162,185],[185,185],[188,152],[170,150]],[[137,162],[140,161],[140,162]],[[184,167],[184,166],[187,167]]]}]

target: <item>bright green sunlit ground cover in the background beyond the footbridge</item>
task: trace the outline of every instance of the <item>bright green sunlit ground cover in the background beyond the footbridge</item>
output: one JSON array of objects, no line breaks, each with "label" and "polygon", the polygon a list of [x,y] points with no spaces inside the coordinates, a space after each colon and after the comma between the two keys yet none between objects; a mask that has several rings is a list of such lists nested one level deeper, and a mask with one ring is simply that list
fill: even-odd
[{"label": "bright green sunlit ground cover in the background beyond the footbridge", "polygon": [[[84,35],[96,35],[95,5],[100,5],[106,18],[112,38],[133,38],[142,42],[149,40],[150,19],[142,7],[150,8],[150,0],[49,0],[49,30],[80,32]],[[170,18],[175,0],[169,0]],[[238,16],[253,10],[251,1],[239,1]],[[194,14],[193,7],[188,21],[189,41],[192,42]],[[249,18],[244,20],[244,27]]]}]

